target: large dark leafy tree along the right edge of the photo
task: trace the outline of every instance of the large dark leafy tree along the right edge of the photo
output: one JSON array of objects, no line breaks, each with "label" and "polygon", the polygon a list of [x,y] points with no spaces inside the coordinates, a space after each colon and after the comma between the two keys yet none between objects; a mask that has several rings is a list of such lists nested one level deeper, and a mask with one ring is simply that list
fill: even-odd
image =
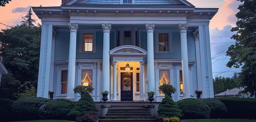
[{"label": "large dark leafy tree along the right edge of the photo", "polygon": [[239,73],[241,85],[245,87],[245,92],[253,94],[256,83],[256,0],[237,1],[243,4],[239,5],[240,11],[236,14],[237,26],[231,29],[231,32],[237,32],[231,37],[236,44],[228,48],[226,55],[231,58],[227,67],[242,67]]}]

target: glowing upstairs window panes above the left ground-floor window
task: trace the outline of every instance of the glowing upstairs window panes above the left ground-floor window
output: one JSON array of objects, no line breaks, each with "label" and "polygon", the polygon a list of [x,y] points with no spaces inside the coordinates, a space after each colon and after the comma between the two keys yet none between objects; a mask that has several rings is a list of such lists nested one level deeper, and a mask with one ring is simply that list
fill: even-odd
[{"label": "glowing upstairs window panes above the left ground-floor window", "polygon": [[93,34],[83,34],[83,51],[93,51]]}]

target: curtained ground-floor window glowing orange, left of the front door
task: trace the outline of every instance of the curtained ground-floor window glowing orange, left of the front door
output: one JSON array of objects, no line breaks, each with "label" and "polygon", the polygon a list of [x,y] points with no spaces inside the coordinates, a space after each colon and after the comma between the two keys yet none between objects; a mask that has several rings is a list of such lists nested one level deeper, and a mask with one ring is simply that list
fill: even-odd
[{"label": "curtained ground-floor window glowing orange, left of the front door", "polygon": [[83,86],[93,86],[93,70],[82,70],[81,72],[81,85]]}]

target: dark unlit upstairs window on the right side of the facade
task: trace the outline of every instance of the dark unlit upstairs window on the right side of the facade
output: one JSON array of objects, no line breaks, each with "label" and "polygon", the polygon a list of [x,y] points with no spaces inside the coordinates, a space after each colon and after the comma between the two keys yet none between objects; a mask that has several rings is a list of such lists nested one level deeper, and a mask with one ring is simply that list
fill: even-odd
[{"label": "dark unlit upstairs window on the right side of the facade", "polygon": [[169,36],[168,34],[159,34],[159,52],[169,51]]}]

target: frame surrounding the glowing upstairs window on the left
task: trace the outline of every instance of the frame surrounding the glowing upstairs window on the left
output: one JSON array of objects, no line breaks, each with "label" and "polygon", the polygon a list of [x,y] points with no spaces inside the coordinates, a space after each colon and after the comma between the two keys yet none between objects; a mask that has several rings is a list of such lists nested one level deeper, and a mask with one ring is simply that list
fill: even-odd
[{"label": "frame surrounding the glowing upstairs window on the left", "polygon": [[[81,30],[79,34],[79,53],[96,53],[96,31],[93,29]],[[93,51],[83,51],[83,34],[93,34]]]}]

